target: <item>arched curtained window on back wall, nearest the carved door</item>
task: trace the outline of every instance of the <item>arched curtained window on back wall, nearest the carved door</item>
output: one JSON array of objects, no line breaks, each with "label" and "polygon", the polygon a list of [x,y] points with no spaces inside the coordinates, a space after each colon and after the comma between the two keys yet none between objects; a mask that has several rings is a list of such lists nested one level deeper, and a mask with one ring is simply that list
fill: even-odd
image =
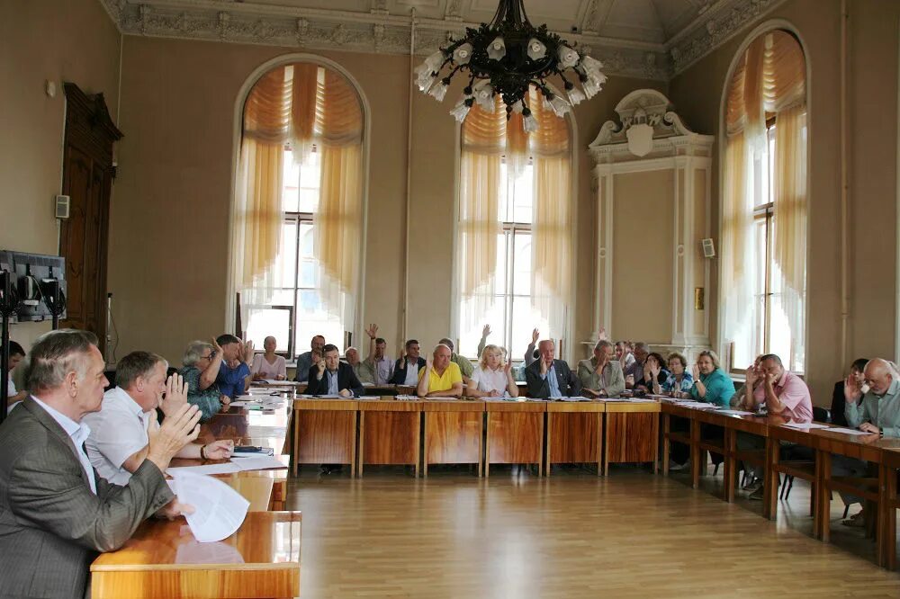
[{"label": "arched curtained window on back wall, nearest the carved door", "polygon": [[267,71],[244,104],[232,268],[247,337],[293,358],[312,335],[341,344],[361,273],[362,103],[335,69]]}]

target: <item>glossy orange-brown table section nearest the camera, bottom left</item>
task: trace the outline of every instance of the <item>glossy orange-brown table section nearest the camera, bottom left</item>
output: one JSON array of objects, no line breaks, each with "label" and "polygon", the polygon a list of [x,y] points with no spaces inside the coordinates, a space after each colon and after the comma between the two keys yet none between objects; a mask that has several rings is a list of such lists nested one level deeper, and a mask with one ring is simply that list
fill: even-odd
[{"label": "glossy orange-brown table section nearest the camera, bottom left", "polygon": [[184,520],[143,523],[91,566],[94,599],[296,597],[300,512],[249,512],[228,539],[199,543]]}]

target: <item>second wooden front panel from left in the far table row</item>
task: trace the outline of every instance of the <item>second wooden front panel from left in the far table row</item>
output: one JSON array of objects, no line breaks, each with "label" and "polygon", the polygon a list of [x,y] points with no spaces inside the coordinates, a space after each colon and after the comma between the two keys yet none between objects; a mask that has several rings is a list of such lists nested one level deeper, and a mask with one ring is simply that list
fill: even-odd
[{"label": "second wooden front panel from left in the far table row", "polygon": [[410,464],[419,476],[422,402],[359,402],[359,476],[364,464]]}]

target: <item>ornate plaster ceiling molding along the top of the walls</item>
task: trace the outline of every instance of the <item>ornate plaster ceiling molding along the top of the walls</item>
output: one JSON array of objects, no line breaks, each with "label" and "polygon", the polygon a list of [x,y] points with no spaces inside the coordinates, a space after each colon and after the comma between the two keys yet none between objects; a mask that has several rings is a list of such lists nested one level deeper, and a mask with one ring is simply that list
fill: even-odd
[{"label": "ornate plaster ceiling molding along the top of the walls", "polygon": [[[415,22],[417,55],[429,54],[464,34],[471,2],[447,0],[443,19],[390,14],[386,0],[370,0],[369,12],[253,4],[234,0],[99,0],[124,35],[217,40],[300,49],[409,54]],[[608,75],[668,81],[784,0],[692,0],[700,14],[665,44],[600,36],[595,31],[557,31],[604,63]],[[585,29],[600,29],[613,0],[592,0]],[[595,24],[596,23],[596,24]],[[591,27],[594,25],[594,27]]]}]

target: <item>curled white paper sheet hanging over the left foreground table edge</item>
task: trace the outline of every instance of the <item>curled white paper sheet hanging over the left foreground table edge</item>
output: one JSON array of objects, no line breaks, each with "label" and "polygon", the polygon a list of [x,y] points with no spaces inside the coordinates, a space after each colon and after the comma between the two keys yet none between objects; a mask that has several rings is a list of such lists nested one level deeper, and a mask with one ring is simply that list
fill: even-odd
[{"label": "curled white paper sheet hanging over the left foreground table edge", "polygon": [[244,522],[250,502],[221,480],[185,471],[174,476],[178,501],[193,505],[184,518],[197,541],[227,539]]}]

